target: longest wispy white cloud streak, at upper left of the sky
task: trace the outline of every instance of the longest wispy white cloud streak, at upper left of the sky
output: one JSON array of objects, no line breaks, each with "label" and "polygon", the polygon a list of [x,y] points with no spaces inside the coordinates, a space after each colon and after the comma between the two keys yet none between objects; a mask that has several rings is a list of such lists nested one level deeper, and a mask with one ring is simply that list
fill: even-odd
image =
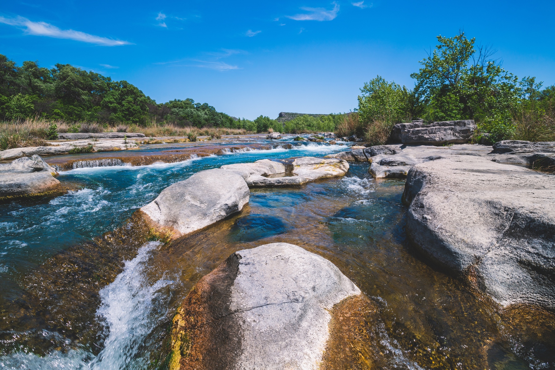
[{"label": "longest wispy white cloud streak, at upper left of the sky", "polygon": [[16,17],[16,18],[6,18],[0,16],[0,23],[9,24],[10,26],[15,26],[18,28],[23,28],[26,34],[34,36],[47,36],[54,38],[69,39],[81,42],[87,42],[91,44],[103,45],[103,46],[119,46],[119,45],[129,45],[130,42],[122,40],[114,40],[107,37],[94,36],[92,34],[73,31],[73,29],[59,29],[56,26],[52,26],[50,23],[46,22],[32,22],[27,18]]}]

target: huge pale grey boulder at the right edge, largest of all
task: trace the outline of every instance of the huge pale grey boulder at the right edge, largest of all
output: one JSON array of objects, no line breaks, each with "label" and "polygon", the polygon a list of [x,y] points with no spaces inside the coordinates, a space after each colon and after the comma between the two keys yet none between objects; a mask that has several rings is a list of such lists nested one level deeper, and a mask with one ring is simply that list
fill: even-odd
[{"label": "huge pale grey boulder at the right edge, largest of all", "polygon": [[412,244],[502,306],[555,308],[555,176],[452,156],[408,171]]}]

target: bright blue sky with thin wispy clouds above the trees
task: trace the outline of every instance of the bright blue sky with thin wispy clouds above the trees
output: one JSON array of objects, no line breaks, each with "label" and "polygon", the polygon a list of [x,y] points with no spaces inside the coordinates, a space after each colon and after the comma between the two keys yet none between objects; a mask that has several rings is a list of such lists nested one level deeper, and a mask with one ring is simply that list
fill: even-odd
[{"label": "bright blue sky with thin wispy clouds above the trees", "polygon": [[26,0],[0,17],[0,53],[19,64],[70,63],[249,119],[349,111],[377,74],[412,87],[435,37],[459,29],[510,72],[555,84],[553,1]]}]

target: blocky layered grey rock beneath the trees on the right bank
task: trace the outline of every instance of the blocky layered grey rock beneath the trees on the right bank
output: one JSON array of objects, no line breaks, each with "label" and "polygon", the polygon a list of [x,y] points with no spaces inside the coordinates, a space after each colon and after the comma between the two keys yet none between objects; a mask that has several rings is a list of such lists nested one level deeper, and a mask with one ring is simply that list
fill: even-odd
[{"label": "blocky layered grey rock beneath the trees on the right bank", "polygon": [[464,144],[476,130],[474,120],[398,123],[388,138],[390,143],[402,144]]}]

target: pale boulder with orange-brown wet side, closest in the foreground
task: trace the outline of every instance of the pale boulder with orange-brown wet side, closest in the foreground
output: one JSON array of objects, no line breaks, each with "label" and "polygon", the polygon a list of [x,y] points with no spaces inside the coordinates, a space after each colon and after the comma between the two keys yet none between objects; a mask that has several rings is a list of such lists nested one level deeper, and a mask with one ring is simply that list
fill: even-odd
[{"label": "pale boulder with orange-brown wet side, closest in the foreground", "polygon": [[173,320],[170,369],[319,369],[334,306],[361,296],[301,247],[235,252],[201,278]]}]

